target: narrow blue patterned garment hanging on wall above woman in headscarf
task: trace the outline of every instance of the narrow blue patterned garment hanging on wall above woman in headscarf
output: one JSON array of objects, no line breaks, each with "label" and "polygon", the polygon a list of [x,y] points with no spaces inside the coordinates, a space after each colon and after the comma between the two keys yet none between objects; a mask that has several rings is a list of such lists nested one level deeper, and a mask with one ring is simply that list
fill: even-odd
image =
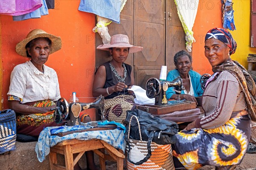
[{"label": "narrow blue patterned garment hanging on wall above woman in headscarf", "polygon": [[223,4],[223,6],[222,6],[223,28],[230,29],[232,31],[236,30],[232,0],[221,0],[221,3]]}]

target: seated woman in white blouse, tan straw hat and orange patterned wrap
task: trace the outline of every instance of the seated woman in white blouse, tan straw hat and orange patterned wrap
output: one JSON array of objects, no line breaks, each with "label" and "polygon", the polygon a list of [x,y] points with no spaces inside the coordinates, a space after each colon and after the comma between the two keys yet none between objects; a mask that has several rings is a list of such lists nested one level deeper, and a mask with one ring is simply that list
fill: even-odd
[{"label": "seated woman in white blouse, tan straw hat and orange patterned wrap", "polygon": [[[29,61],[13,69],[7,95],[10,109],[16,112],[17,134],[26,135],[25,138],[33,136],[35,140],[45,127],[63,125],[55,123],[50,110],[61,97],[58,76],[45,65],[49,54],[60,49],[61,38],[41,29],[29,32],[16,46],[16,52]],[[93,152],[86,152],[86,157],[87,169],[97,170]],[[81,169],[79,164],[74,168]]]}]

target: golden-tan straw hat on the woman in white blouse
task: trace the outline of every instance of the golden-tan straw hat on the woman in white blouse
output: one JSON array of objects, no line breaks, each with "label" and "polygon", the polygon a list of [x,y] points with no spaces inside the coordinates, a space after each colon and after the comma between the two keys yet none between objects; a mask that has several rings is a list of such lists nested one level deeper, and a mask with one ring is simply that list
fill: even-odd
[{"label": "golden-tan straw hat on the woman in white blouse", "polygon": [[29,32],[29,34],[26,36],[26,39],[17,43],[16,52],[23,57],[27,57],[25,48],[26,44],[29,43],[29,41],[38,37],[47,37],[52,41],[52,47],[49,54],[52,54],[61,49],[61,37],[56,37],[54,35],[48,34],[42,29],[34,29]]}]

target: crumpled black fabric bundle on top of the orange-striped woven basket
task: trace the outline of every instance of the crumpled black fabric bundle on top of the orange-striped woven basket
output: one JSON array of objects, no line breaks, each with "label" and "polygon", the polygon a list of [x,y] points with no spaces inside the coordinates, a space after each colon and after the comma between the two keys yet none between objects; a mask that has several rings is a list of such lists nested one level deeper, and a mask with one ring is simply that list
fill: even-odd
[{"label": "crumpled black fabric bundle on top of the orange-striped woven basket", "polygon": [[[175,134],[178,132],[178,125],[175,122],[167,121],[162,118],[156,118],[150,113],[134,109],[127,111],[127,115],[123,124],[126,129],[129,127],[131,116],[137,116],[140,123],[141,136],[143,141],[152,140],[157,144],[175,144],[177,137]],[[125,138],[128,138],[128,132],[125,133]],[[140,139],[140,132],[138,129],[138,122],[135,119],[131,120],[130,136],[129,138],[135,140]]]}]

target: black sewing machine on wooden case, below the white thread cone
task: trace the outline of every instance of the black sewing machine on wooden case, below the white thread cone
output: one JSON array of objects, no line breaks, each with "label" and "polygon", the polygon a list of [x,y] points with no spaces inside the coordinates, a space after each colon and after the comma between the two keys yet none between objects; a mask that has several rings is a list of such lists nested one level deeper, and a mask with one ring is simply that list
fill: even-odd
[{"label": "black sewing machine on wooden case, below the white thread cone", "polygon": [[146,95],[148,98],[155,98],[155,105],[167,104],[166,91],[169,87],[175,87],[177,100],[180,100],[181,90],[185,89],[180,77],[175,78],[174,81],[159,81],[157,78],[150,78],[146,84]]}]

